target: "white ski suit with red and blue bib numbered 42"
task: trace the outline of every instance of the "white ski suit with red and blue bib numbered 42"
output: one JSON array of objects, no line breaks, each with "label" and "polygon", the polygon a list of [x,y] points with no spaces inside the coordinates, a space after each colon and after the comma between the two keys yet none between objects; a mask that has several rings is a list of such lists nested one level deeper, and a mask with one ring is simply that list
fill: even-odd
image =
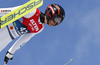
[{"label": "white ski suit with red and blue bib numbered 42", "polygon": [[[0,16],[4,16],[18,7],[20,6],[0,8]],[[0,52],[12,40],[21,35],[21,37],[8,50],[11,54],[14,54],[16,50],[23,46],[34,35],[40,33],[44,28],[44,17],[42,17],[41,14],[42,13],[39,9],[35,9],[22,18],[0,29]]]}]

